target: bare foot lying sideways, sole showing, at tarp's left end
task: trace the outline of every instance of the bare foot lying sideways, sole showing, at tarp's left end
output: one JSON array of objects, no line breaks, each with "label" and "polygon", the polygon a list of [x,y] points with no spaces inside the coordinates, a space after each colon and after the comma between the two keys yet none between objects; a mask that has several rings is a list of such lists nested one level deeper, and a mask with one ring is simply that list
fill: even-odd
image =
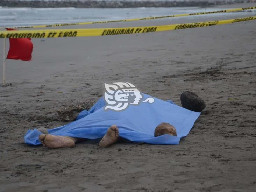
[{"label": "bare foot lying sideways, sole showing, at tarp's left end", "polygon": [[39,141],[43,146],[50,149],[61,147],[74,147],[75,145],[75,142],[70,138],[56,135],[39,135]]}]

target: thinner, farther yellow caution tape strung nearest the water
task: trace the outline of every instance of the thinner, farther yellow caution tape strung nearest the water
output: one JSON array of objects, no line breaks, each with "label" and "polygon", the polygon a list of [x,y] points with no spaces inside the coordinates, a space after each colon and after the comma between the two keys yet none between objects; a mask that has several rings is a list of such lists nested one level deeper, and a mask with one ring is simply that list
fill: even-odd
[{"label": "thinner, farther yellow caution tape strung nearest the water", "polygon": [[164,19],[164,18],[170,18],[170,17],[184,17],[184,16],[206,15],[206,14],[214,14],[214,13],[237,12],[237,11],[251,10],[251,9],[256,9],[256,7],[245,7],[245,8],[235,8],[235,9],[227,9],[227,10],[219,10],[219,11],[211,11],[211,12],[186,13],[186,14],[178,14],[178,15],[167,15],[167,16],[158,16],[158,17],[144,17],[144,18],[124,19],[124,20],[114,20],[114,21],[99,21],[99,22],[85,22],[85,23],[62,23],[62,24],[20,26],[20,27],[8,27],[8,28],[13,28],[13,29],[43,28],[43,27],[76,26],[76,25],[114,23],[114,22],[126,22],[126,21],[140,21],[140,20],[151,20],[151,19]]}]

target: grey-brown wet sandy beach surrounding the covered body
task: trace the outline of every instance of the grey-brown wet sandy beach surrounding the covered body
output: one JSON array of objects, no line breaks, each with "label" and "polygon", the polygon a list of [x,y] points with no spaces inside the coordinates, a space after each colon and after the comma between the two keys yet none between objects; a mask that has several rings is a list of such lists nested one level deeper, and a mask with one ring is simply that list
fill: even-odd
[{"label": "grey-brown wet sandy beach surrounding the covered body", "polygon": [[[254,4],[220,6],[249,7]],[[180,17],[83,28],[236,18]],[[67,27],[65,27],[67,28]],[[70,27],[74,28],[74,27]],[[77,28],[77,27],[76,27]],[[148,34],[33,39],[33,60],[7,60],[0,87],[0,191],[254,191],[256,21]],[[3,58],[0,40],[0,58]],[[8,50],[8,46],[7,46]],[[2,62],[0,62],[2,80]],[[179,145],[98,141],[74,148],[24,144],[35,127],[66,122],[57,110],[96,102],[103,83],[128,81],[180,104],[193,91],[207,107]]]}]

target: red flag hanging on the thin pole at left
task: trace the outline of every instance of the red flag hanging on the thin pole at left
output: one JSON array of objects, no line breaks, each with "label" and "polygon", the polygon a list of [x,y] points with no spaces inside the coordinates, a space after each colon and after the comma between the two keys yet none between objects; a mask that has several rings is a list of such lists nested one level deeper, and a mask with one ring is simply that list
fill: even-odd
[{"label": "red flag hanging on the thin pole at left", "polygon": [[[7,28],[7,31],[16,29]],[[7,59],[20,59],[30,61],[32,59],[33,43],[30,38],[9,38],[10,49]]]}]

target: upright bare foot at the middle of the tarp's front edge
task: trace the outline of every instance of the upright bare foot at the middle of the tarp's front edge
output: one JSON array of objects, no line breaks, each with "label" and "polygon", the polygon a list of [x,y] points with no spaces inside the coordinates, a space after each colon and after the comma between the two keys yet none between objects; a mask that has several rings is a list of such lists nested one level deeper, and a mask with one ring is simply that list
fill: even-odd
[{"label": "upright bare foot at the middle of the tarp's front edge", "polygon": [[112,125],[108,128],[106,135],[102,138],[99,145],[100,147],[109,147],[113,145],[119,137],[119,131],[116,125]]}]

